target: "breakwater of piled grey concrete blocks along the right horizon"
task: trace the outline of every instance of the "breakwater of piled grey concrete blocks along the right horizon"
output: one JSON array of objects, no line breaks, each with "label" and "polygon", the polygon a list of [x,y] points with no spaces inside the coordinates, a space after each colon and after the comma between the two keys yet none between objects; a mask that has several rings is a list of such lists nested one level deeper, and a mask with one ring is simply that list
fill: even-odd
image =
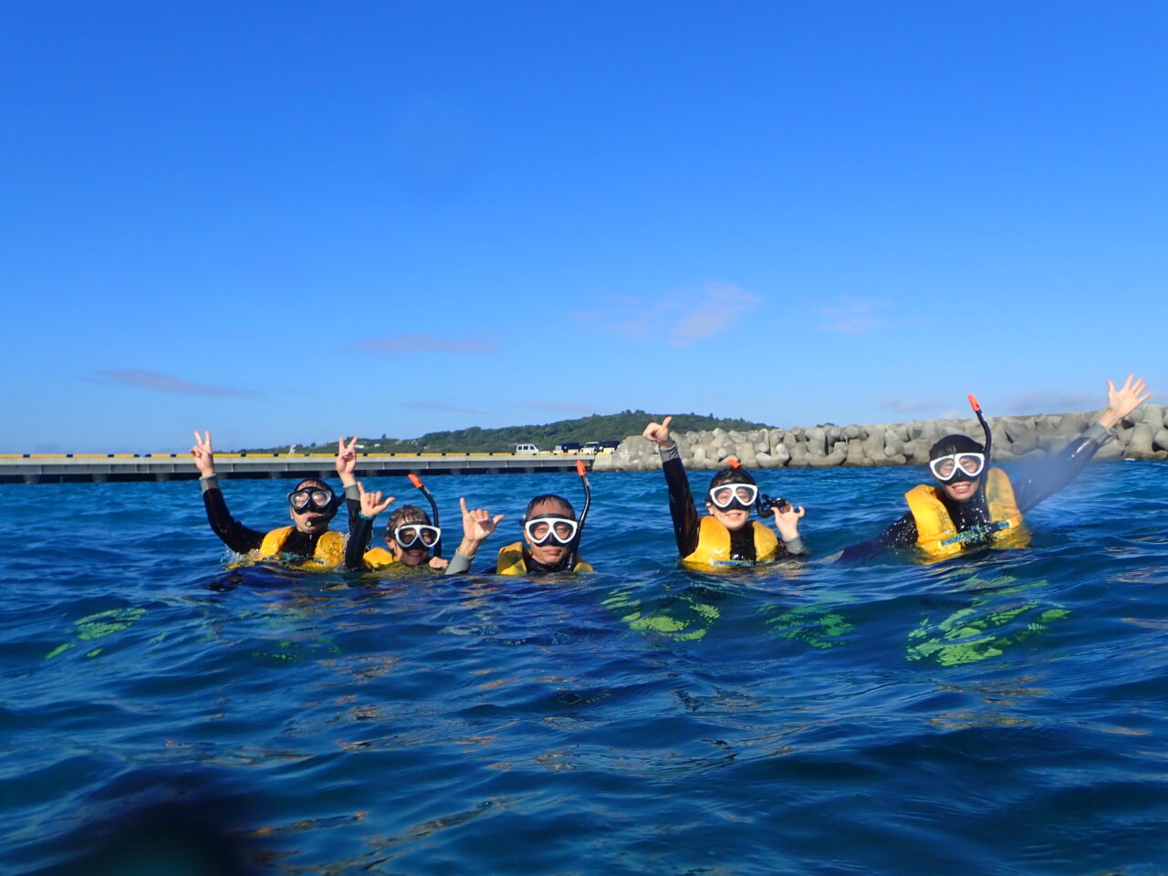
[{"label": "breakwater of piled grey concrete blocks along the right horizon", "polygon": [[[1098,415],[1041,413],[992,417],[993,457],[997,463],[1042,459],[1057,453]],[[1117,427],[1096,459],[1168,459],[1168,410],[1146,404]],[[941,436],[959,432],[981,440],[974,419],[926,419],[837,426],[832,423],[793,429],[728,432],[675,432],[687,468],[722,468],[736,457],[748,468],[827,468],[832,466],[925,465],[929,449]],[[641,436],[630,436],[610,457],[597,457],[593,470],[637,472],[660,468],[656,447]]]}]

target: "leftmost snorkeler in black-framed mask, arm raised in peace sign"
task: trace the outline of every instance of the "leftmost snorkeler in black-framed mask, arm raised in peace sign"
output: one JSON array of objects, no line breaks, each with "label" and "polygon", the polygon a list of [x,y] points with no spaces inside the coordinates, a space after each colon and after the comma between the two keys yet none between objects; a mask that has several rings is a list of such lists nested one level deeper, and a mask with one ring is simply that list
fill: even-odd
[{"label": "leftmost snorkeler in black-framed mask, arm raised in peace sign", "polygon": [[331,568],[345,556],[345,536],[328,528],[341,500],[333,488],[317,478],[305,478],[288,493],[288,516],[292,526],[262,533],[239,523],[227,509],[223,491],[215,477],[215,453],[211,433],[195,431],[190,449],[199,468],[199,486],[203,492],[207,520],[215,534],[236,554],[258,551],[257,558],[285,557],[296,563]]}]

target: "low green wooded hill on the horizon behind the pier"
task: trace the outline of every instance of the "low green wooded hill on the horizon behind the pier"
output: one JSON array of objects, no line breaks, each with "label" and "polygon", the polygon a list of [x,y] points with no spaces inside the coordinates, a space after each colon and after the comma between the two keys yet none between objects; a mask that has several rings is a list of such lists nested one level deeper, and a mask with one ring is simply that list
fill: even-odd
[{"label": "low green wooded hill on the horizon behind the pier", "polygon": [[[537,444],[540,450],[551,450],[563,442],[620,440],[630,434],[640,434],[649,420],[660,422],[662,413],[645,411],[621,411],[605,416],[593,413],[578,419],[561,419],[542,425],[506,426],[503,429],[459,429],[452,432],[427,432],[420,438],[362,438],[364,453],[505,453],[514,450],[516,444]],[[693,432],[705,429],[722,427],[725,430],[767,429],[765,423],[751,423],[745,419],[719,419],[697,413],[677,413],[673,417],[672,427],[679,432]],[[280,447],[246,449],[250,453],[274,453],[286,450]],[[305,453],[331,453],[336,451],[336,439],[321,444],[300,446]]]}]

